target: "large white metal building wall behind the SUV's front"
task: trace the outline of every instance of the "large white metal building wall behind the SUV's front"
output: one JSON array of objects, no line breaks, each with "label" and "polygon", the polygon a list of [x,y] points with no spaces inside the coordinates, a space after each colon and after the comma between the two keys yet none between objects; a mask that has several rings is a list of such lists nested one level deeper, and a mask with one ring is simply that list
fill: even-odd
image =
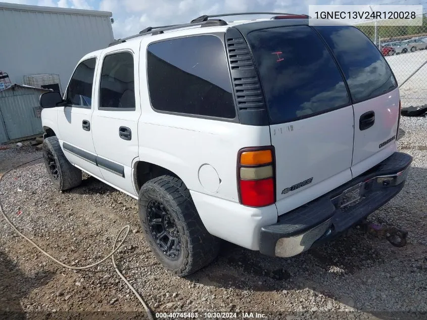
[{"label": "large white metal building wall behind the SUV's front", "polygon": [[36,9],[0,6],[0,70],[8,72],[13,83],[22,83],[27,74],[59,74],[65,90],[78,60],[114,40],[111,13]]}]

